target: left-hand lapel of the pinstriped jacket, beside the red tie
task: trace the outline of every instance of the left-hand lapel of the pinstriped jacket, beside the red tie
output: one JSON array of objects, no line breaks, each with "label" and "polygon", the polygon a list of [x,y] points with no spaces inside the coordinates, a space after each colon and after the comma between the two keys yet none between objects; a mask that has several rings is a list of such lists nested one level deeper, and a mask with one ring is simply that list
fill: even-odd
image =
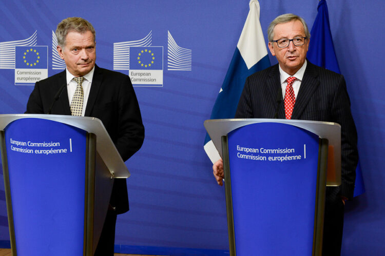
[{"label": "left-hand lapel of the pinstriped jacket, beside the red tie", "polygon": [[274,110],[272,117],[274,117],[276,108],[277,108],[277,98],[280,96],[281,98],[281,103],[279,104],[278,107],[278,118],[284,118],[285,116],[285,109],[284,109],[284,104],[282,104],[282,87],[281,87],[281,80],[280,80],[280,74],[279,74],[279,69],[278,69],[278,64],[275,65],[270,73],[269,76],[266,80],[266,87],[269,91],[269,94],[271,95],[271,99],[273,101],[274,105]]}]

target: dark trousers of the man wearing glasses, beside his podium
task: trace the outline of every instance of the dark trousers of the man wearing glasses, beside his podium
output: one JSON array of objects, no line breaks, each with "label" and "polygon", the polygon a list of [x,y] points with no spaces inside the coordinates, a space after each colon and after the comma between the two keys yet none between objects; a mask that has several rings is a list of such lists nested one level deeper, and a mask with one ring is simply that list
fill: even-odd
[{"label": "dark trousers of the man wearing glasses, beside his podium", "polygon": [[339,196],[334,202],[326,201],[323,224],[323,256],[339,256],[341,254],[343,211],[344,205]]}]

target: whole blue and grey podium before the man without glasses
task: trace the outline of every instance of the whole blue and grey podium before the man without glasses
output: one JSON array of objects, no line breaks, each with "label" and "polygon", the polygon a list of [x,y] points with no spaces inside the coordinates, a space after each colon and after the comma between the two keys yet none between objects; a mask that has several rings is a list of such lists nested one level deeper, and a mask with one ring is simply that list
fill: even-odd
[{"label": "whole blue and grey podium before the man without glasses", "polygon": [[12,255],[93,255],[129,171],[94,117],[0,115]]}]

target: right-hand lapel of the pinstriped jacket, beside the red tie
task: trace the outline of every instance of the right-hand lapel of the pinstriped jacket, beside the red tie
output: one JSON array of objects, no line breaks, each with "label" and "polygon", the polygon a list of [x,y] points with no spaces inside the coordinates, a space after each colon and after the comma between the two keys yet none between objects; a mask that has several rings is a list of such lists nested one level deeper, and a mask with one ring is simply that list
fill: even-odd
[{"label": "right-hand lapel of the pinstriped jacket, beside the red tie", "polygon": [[307,61],[306,70],[303,74],[301,86],[299,87],[296,103],[294,105],[292,119],[299,119],[318,85],[319,80],[317,79],[317,72],[313,64]]}]

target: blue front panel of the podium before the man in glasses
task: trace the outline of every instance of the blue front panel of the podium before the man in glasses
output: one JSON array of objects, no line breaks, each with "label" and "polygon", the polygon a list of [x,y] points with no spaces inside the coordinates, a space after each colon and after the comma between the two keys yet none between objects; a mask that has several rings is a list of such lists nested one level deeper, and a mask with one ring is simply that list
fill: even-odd
[{"label": "blue front panel of the podium before the man in glasses", "polygon": [[225,187],[233,255],[314,253],[319,143],[318,135],[282,123],[228,133]]}]

